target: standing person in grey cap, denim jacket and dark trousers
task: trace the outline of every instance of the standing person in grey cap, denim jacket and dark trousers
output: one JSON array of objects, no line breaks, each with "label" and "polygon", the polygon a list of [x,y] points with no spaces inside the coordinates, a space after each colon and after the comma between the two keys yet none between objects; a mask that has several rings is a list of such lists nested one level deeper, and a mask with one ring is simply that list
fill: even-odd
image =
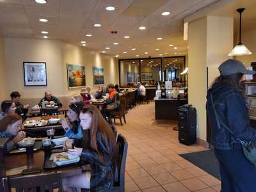
[{"label": "standing person in grey cap, denim jacket and dark trousers", "polygon": [[221,191],[254,192],[256,168],[244,156],[238,140],[256,141],[256,129],[250,125],[248,105],[240,86],[244,74],[255,72],[246,70],[237,60],[225,61],[219,70],[220,76],[207,93],[206,107],[211,143],[220,163]]}]

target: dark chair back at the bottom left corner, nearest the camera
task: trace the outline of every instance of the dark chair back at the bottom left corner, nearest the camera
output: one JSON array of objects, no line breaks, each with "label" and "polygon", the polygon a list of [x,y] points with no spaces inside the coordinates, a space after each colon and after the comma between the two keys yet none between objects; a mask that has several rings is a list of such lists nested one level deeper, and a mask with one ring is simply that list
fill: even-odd
[{"label": "dark chair back at the bottom left corner, nearest the camera", "polygon": [[61,182],[61,172],[38,175],[23,175],[18,177],[3,178],[4,192],[11,192],[12,188],[16,192],[53,192],[54,188],[63,191]]}]

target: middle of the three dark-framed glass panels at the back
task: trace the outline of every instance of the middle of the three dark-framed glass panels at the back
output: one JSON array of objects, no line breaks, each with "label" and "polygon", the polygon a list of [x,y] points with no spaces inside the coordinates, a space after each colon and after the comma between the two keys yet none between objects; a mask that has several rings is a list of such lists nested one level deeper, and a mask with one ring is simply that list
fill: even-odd
[{"label": "middle of the three dark-framed glass panels at the back", "polygon": [[161,58],[142,59],[141,62],[141,84],[155,86],[161,81]]}]

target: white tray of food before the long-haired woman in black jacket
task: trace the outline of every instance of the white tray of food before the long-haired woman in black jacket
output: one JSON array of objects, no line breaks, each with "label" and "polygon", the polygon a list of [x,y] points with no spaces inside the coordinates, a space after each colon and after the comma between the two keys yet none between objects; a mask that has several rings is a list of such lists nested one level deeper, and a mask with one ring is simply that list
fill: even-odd
[{"label": "white tray of food before the long-haired woman in black jacket", "polygon": [[[53,161],[56,163],[58,166],[63,166],[65,164],[72,164],[72,163],[77,163],[80,161],[79,156],[74,156],[72,154],[68,154],[67,152],[61,152],[57,154],[52,154]],[[52,157],[50,157],[51,159]]]}]

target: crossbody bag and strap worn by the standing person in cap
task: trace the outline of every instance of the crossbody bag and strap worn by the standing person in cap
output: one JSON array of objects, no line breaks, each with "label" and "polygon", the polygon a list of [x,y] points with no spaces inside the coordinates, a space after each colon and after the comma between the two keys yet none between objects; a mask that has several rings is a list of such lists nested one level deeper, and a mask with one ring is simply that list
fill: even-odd
[{"label": "crossbody bag and strap worn by the standing person in cap", "polygon": [[218,128],[220,129],[220,124],[223,125],[223,127],[225,127],[225,129],[227,129],[227,131],[230,132],[231,136],[235,140],[237,140],[241,143],[243,152],[244,152],[244,156],[246,157],[246,159],[248,159],[248,161],[250,161],[250,163],[252,163],[256,167],[256,145],[255,145],[255,143],[253,143],[252,141],[243,141],[239,138],[236,138],[234,132],[224,122],[222,122],[221,118],[219,118],[218,113],[215,109],[215,104],[212,99],[212,93],[210,94],[210,96],[211,96],[212,108],[214,111],[214,115],[216,117],[216,122],[217,122]]}]

